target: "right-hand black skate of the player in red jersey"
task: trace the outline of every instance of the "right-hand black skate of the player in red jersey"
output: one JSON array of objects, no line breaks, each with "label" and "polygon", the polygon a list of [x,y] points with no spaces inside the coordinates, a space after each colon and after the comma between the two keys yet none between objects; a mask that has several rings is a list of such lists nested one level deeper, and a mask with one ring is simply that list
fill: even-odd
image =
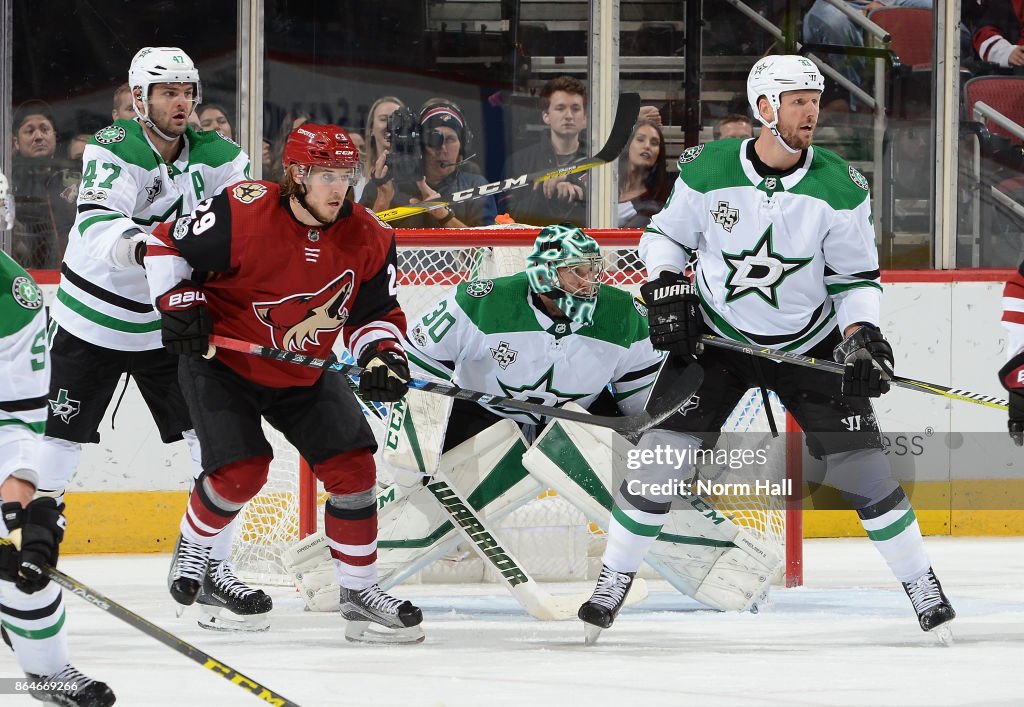
[{"label": "right-hand black skate of the player in red jersey", "polygon": [[[356,643],[419,643],[423,612],[374,584],[366,589],[341,588],[341,615],[348,621],[345,638]],[[371,624],[389,629],[374,630]]]}]

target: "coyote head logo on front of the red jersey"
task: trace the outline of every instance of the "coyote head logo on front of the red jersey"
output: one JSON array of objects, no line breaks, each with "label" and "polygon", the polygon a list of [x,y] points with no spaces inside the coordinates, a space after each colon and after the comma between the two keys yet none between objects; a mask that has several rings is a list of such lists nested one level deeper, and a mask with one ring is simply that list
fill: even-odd
[{"label": "coyote head logo on front of the red jersey", "polygon": [[307,341],[319,345],[322,331],[344,326],[348,319],[345,303],[354,284],[355,275],[345,271],[319,292],[291,295],[276,302],[253,302],[253,311],[270,327],[274,346],[302,351]]}]

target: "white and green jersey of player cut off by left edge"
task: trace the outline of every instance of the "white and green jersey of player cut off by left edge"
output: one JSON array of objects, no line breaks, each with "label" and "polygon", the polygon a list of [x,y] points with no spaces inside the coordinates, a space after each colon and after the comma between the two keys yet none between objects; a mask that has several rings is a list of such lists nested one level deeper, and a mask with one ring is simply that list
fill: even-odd
[{"label": "white and green jersey of player cut off by left edge", "polygon": [[37,483],[49,385],[43,294],[0,250],[0,483],[14,471]]}]

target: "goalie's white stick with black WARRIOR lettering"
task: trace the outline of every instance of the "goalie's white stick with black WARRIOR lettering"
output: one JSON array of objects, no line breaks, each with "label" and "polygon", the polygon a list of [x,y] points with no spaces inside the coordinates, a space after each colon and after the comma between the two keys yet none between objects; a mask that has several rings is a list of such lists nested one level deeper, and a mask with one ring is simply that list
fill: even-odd
[{"label": "goalie's white stick with black WARRIOR lettering", "polygon": [[[588,596],[549,594],[529,576],[512,553],[499,544],[495,535],[473,512],[469,503],[447,482],[439,477],[439,474],[427,483],[427,490],[449,514],[462,536],[472,543],[480,558],[498,572],[502,583],[530,616],[541,621],[562,621],[575,617],[580,605],[586,601]],[[635,588],[640,592],[634,601],[646,598],[646,584]]]}]

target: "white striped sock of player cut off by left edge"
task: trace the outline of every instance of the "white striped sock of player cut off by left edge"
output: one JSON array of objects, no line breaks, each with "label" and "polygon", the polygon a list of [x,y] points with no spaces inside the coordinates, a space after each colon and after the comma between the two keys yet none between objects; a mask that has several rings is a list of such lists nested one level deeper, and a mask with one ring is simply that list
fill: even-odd
[{"label": "white striped sock of player cut off by left edge", "polygon": [[63,596],[55,582],[34,594],[0,582],[0,617],[25,672],[52,675],[71,662]]}]

